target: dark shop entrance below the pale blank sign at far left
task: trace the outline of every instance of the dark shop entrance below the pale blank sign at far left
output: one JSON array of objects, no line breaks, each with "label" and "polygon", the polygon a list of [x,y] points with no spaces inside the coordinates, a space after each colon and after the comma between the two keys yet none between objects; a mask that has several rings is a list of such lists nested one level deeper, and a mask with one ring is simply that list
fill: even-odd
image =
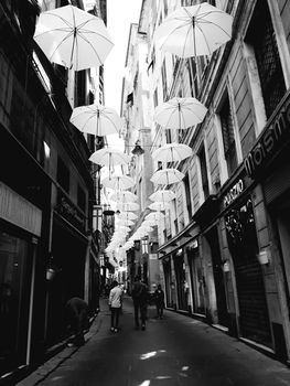
[{"label": "dark shop entrance below the pale blank sign at far left", "polygon": [[32,245],[0,223],[0,374],[25,364]]}]

